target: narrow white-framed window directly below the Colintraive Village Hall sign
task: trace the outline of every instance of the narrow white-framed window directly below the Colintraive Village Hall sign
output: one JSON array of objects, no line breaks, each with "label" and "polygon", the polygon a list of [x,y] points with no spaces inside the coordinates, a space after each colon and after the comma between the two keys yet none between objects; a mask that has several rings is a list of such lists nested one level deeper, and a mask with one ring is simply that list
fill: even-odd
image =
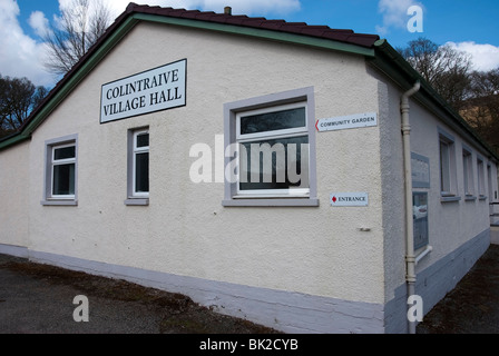
[{"label": "narrow white-framed window directly below the Colintraive Village Hall sign", "polygon": [[126,205],[148,205],[149,130],[128,131],[128,199]]}]

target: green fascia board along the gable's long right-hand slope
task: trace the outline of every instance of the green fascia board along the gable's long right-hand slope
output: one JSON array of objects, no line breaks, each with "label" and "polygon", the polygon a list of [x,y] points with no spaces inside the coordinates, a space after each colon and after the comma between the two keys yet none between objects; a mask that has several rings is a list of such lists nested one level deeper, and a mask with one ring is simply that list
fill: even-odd
[{"label": "green fascia board along the gable's long right-hand slope", "polygon": [[241,34],[241,36],[250,36],[256,37],[267,40],[274,40],[280,42],[288,42],[293,44],[303,44],[309,47],[322,48],[336,50],[342,52],[350,52],[355,55],[361,55],[365,57],[374,57],[374,49],[365,48],[361,46],[355,46],[351,43],[342,43],[334,40],[315,38],[299,33],[288,33],[288,32],[280,32],[272,31],[266,29],[258,28],[250,28],[243,26],[235,26],[229,23],[217,23],[217,22],[208,22],[203,20],[192,20],[192,19],[182,19],[182,18],[169,18],[162,17],[149,13],[134,13],[133,16],[137,20],[149,21],[149,22],[159,22],[166,24],[182,26],[182,27],[190,27],[202,30],[211,30],[218,31],[225,33]]}]

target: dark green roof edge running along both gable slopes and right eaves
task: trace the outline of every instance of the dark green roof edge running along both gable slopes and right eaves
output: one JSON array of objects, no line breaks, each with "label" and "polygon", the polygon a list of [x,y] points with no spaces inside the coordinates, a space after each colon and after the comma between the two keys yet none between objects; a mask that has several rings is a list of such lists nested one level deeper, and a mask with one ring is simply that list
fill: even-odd
[{"label": "dark green roof edge running along both gable slopes and right eaves", "polygon": [[[96,48],[89,58],[86,58],[80,68],[76,70],[66,81],[61,88],[57,89],[50,100],[45,103],[36,115],[29,119],[29,122],[21,129],[20,132],[9,136],[0,140],[0,150],[19,144],[23,140],[30,139],[31,134],[43,120],[53,111],[53,109],[78,86],[78,83],[100,62],[101,59],[131,30],[131,28],[139,21],[148,21],[156,23],[165,23],[172,26],[182,26],[196,29],[212,30],[225,33],[233,33],[239,36],[248,36],[253,38],[262,38],[292,44],[301,44],[313,48],[334,50],[360,55],[366,58],[373,67],[384,72],[389,78],[394,80],[403,90],[409,89],[415,81],[420,81],[422,90],[420,90],[414,98],[422,105],[439,115],[442,119],[449,116],[454,119],[458,126],[467,134],[471,135],[482,147],[485,147],[491,157],[499,161],[496,152],[486,144],[462,119],[462,117],[454,112],[434,91],[434,89],[403,59],[403,57],[395,50],[385,39],[380,39],[374,43],[373,48],[364,48],[351,43],[343,43],[340,41],[314,38],[311,36],[280,32],[266,30],[261,28],[250,28],[243,26],[235,26],[229,23],[217,23],[204,20],[182,19],[174,17],[164,17],[159,14],[131,12],[124,18],[116,29],[108,34],[107,39]],[[65,80],[65,79],[62,79]],[[456,123],[453,122],[453,123]],[[452,122],[450,122],[452,123]]]}]

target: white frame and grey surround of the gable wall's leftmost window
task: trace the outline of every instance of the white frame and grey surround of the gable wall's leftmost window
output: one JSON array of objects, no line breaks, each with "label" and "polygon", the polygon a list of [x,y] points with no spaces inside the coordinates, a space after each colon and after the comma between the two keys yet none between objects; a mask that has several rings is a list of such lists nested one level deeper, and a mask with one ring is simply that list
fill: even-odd
[{"label": "white frame and grey surround of the gable wall's leftmost window", "polygon": [[[75,147],[75,157],[66,159],[55,159],[57,149],[65,147]],[[53,168],[58,165],[75,165],[75,191],[70,195],[55,195],[53,194]],[[43,197],[41,205],[78,205],[78,135],[69,135],[56,139],[50,139],[45,142],[45,178],[43,178]]]}]

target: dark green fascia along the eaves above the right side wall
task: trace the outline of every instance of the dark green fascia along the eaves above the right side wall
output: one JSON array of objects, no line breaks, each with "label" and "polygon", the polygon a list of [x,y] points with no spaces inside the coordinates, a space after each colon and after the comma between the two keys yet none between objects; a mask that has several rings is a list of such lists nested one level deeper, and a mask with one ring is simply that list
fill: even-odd
[{"label": "dark green fascia along the eaves above the right side wall", "polygon": [[499,157],[493,149],[478,136],[471,126],[440,97],[433,87],[387,40],[381,39],[376,41],[374,48],[375,57],[368,59],[374,68],[378,68],[391,78],[404,91],[412,88],[419,81],[421,88],[414,93],[414,100],[419,101],[457,131],[474,139],[478,145],[485,148],[490,158],[499,161]]}]

